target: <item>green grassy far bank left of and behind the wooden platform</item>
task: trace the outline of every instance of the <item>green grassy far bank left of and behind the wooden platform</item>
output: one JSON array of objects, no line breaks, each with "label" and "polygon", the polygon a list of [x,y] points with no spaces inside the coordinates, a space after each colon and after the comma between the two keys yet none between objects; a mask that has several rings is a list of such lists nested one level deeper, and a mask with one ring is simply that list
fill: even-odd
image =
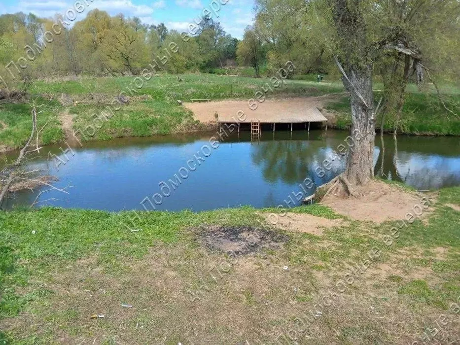
[{"label": "green grassy far bank left of and behind the wooden platform", "polygon": [[[107,140],[199,130],[203,126],[194,123],[191,113],[179,106],[177,100],[248,100],[255,97],[255,92],[262,91],[266,83],[270,83],[268,78],[213,74],[185,74],[180,77],[182,81],[178,81],[176,75],[157,75],[145,82],[141,89],[134,87],[134,77],[81,77],[76,80],[36,81],[30,89],[31,95],[39,94],[54,100],[38,117],[39,123],[43,124],[51,119],[46,133],[43,133],[42,143],[48,144],[64,139],[64,130],[60,126],[61,113],[67,111],[74,115],[74,130],[84,129],[94,124],[94,113],[99,114],[115,96],[121,91],[126,91],[129,86],[137,91],[130,103],[115,112],[113,118],[106,122],[94,137],[88,139]],[[289,80],[283,87],[272,88],[266,97],[319,96],[340,91],[343,91],[343,87],[338,84],[317,85]],[[63,97],[76,103],[63,106],[58,102]],[[26,104],[0,105],[0,120],[8,128],[7,131],[0,128],[0,146],[21,147],[30,135],[30,107]]]}]

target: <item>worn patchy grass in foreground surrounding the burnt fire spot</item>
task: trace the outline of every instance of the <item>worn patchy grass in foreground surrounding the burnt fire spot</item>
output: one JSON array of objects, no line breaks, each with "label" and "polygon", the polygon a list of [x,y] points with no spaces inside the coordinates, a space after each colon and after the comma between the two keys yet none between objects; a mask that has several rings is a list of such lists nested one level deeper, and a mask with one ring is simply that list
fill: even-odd
[{"label": "worn patchy grass in foreground surrounding the burnt fire spot", "polygon": [[[320,235],[280,229],[283,246],[241,256],[228,270],[221,263],[230,258],[203,244],[202,224],[256,225],[273,210],[145,212],[139,232],[121,224],[131,224],[130,212],[1,213],[0,343],[275,344],[332,289],[338,297],[309,316],[298,344],[421,344],[433,328],[433,344],[450,344],[460,336],[452,307],[460,302],[460,188],[433,197],[430,213],[389,247],[382,236],[399,222],[292,209],[334,225]],[[373,246],[382,248],[378,260],[345,292],[334,290]],[[206,288],[192,301],[199,285]],[[91,317],[98,314],[105,317]],[[439,327],[442,314],[449,322]]]}]

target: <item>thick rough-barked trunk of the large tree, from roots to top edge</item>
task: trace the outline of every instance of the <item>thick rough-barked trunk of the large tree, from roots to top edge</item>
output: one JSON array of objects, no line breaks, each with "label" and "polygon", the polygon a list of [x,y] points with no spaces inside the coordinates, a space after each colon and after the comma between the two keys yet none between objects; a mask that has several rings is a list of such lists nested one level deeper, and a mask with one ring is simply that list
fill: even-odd
[{"label": "thick rough-barked trunk of the large tree, from roots to top edge", "polygon": [[341,179],[353,194],[350,185],[362,186],[374,177],[373,60],[361,0],[332,0],[332,6],[338,34],[338,57],[334,58],[343,74],[344,86],[350,92],[351,137],[354,138]]}]

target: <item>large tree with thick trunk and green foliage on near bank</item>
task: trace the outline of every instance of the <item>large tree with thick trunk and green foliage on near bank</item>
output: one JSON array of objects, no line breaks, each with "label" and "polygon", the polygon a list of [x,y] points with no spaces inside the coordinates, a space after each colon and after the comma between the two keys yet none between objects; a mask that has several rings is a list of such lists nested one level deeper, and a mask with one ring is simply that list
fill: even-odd
[{"label": "large tree with thick trunk and green foliage on near bank", "polygon": [[[353,195],[354,186],[366,185],[374,177],[375,123],[386,103],[382,102],[383,97],[377,104],[374,102],[372,82],[378,74],[376,66],[387,64],[392,69],[383,78],[387,89],[394,88],[385,108],[401,116],[407,83],[413,80],[419,84],[425,75],[433,82],[431,69],[425,66],[425,60],[432,61],[424,56],[424,39],[426,45],[427,36],[438,29],[458,32],[460,7],[457,0],[318,0],[308,1],[307,8],[316,17],[326,46],[342,73],[343,84],[350,92],[351,134],[356,140],[349,150],[345,172],[333,183],[341,180]],[[439,16],[440,12],[449,16]],[[429,24],[425,24],[430,18]],[[452,46],[450,41],[446,45]],[[435,55],[427,48],[425,51]],[[435,88],[439,95],[436,84]],[[441,98],[440,101],[452,112]]]}]

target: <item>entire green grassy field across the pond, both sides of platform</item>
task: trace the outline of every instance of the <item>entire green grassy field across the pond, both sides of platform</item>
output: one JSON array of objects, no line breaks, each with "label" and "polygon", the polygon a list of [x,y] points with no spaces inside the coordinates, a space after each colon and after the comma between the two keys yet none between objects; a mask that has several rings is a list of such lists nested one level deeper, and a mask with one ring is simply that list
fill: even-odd
[{"label": "entire green grassy field across the pond, both sides of platform", "polygon": [[[178,81],[175,75],[157,75],[145,82],[141,89],[136,89],[136,96],[131,98],[128,105],[122,106],[114,116],[96,131],[93,137],[81,140],[108,140],[117,137],[166,135],[184,133],[204,129],[204,125],[193,121],[192,114],[177,104],[191,99],[241,99],[254,98],[257,91],[262,91],[268,78],[251,78],[244,76],[227,76],[217,74],[184,74]],[[266,94],[267,98],[299,97],[339,94],[345,90],[342,82],[328,80],[315,81],[314,75],[296,76],[304,80],[287,80],[286,85],[272,88]],[[39,125],[46,128],[42,133],[42,144],[63,141],[66,128],[61,127],[60,114],[69,113],[71,129],[85,129],[94,124],[93,114],[100,114],[107,104],[122,90],[133,86],[133,77],[90,78],[79,77],[75,80],[42,80],[36,81],[30,89],[31,95],[51,97],[53,102],[38,116]],[[381,83],[375,83],[375,89],[380,90]],[[432,94],[417,92],[415,85],[408,86],[407,102],[404,107],[404,126],[402,131],[410,134],[431,135],[460,135],[459,119],[450,116],[441,108]],[[444,93],[450,95],[450,102],[459,111],[460,91],[455,87],[445,87]],[[379,91],[377,91],[378,94]],[[431,90],[432,92],[432,90]],[[61,105],[63,99],[77,103]],[[349,104],[346,98],[335,104],[329,104],[328,109],[338,114],[337,128],[345,129],[350,125]],[[27,140],[30,128],[30,106],[26,104],[0,105],[0,151],[19,148]],[[386,128],[391,129],[388,121]]]}]

